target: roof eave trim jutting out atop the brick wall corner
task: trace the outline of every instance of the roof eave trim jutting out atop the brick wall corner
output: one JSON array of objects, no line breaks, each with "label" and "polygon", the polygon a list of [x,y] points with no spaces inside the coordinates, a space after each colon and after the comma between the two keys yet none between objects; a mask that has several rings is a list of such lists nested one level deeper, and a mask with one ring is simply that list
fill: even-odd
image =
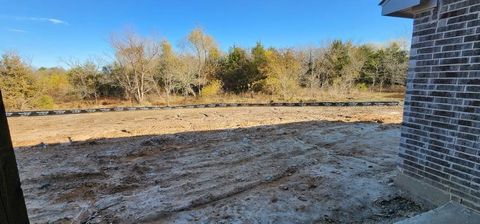
[{"label": "roof eave trim jutting out atop the brick wall corner", "polygon": [[413,18],[415,12],[437,6],[438,0],[383,0],[382,14],[384,16],[395,16]]}]

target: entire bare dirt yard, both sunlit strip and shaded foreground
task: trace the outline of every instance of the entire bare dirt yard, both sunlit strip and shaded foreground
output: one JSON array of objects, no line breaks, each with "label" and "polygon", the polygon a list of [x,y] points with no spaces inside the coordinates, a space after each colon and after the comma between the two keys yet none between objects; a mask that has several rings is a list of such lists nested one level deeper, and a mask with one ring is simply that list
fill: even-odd
[{"label": "entire bare dirt yard, both sunlit strip and shaded foreground", "polygon": [[[11,118],[32,223],[392,223],[401,107]],[[58,144],[61,143],[61,144]]]}]

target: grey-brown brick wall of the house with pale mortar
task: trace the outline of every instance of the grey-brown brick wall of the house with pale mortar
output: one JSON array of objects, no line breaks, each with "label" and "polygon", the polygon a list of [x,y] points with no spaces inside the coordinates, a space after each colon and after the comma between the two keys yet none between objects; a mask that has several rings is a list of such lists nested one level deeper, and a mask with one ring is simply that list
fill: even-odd
[{"label": "grey-brown brick wall of the house with pale mortar", "polygon": [[399,168],[480,211],[480,0],[415,15]]}]

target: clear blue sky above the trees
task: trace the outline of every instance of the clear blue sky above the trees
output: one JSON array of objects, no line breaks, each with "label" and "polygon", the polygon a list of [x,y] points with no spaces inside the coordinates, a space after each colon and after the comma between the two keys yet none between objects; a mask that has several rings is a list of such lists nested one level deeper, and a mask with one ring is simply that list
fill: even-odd
[{"label": "clear blue sky above the trees", "polygon": [[0,53],[34,66],[111,54],[127,27],[178,43],[200,26],[223,50],[292,47],[332,39],[356,43],[409,38],[412,21],[382,17],[379,0],[0,0]]}]

